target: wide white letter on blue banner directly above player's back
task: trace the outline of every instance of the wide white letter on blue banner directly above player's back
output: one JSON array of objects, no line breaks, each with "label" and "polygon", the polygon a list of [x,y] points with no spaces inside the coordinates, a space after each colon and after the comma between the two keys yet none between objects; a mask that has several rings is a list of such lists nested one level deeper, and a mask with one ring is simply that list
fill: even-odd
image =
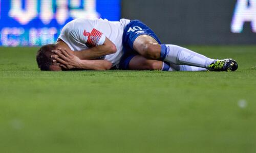
[{"label": "wide white letter on blue banner directly above player's back", "polygon": [[[79,8],[80,3],[77,3],[77,0],[70,0],[71,8],[70,16],[72,18],[80,18],[85,17],[88,19],[99,18],[99,13],[96,11],[96,0],[82,0],[83,1],[83,9],[76,9]],[[74,1],[74,2],[73,2]],[[80,0],[81,1],[81,0]]]}]

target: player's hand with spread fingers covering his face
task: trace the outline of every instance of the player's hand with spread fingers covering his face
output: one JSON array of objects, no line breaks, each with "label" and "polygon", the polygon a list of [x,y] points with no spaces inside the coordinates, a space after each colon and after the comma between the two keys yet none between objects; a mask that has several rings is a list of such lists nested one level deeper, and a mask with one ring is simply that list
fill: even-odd
[{"label": "player's hand with spread fingers covering his face", "polygon": [[72,68],[81,68],[81,60],[73,55],[72,53],[68,52],[67,49],[58,48],[57,50],[52,50],[51,58],[53,58],[53,62],[57,62],[57,64],[66,69]]}]

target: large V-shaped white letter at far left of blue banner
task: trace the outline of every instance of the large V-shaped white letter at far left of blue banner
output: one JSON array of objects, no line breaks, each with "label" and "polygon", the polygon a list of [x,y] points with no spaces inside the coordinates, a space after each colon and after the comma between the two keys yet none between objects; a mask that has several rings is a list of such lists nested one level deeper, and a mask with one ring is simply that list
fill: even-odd
[{"label": "large V-shaped white letter at far left of blue banner", "polygon": [[20,24],[27,24],[37,16],[37,0],[27,0],[25,9],[22,8],[22,0],[11,0],[9,15]]}]

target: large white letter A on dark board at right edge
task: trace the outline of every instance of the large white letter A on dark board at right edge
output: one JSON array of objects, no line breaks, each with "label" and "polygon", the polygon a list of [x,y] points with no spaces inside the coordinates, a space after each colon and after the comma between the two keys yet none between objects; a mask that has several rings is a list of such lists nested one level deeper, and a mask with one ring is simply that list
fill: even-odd
[{"label": "large white letter A on dark board at right edge", "polygon": [[246,21],[251,22],[252,31],[256,33],[256,0],[238,0],[231,23],[231,32],[241,33]]}]

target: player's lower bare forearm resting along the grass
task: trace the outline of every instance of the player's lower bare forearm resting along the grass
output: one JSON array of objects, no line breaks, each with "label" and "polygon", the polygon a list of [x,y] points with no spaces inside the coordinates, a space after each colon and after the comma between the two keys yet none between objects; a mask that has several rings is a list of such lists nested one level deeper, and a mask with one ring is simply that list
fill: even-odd
[{"label": "player's lower bare forearm resting along the grass", "polygon": [[86,70],[109,70],[112,63],[106,60],[81,60],[79,68]]}]

